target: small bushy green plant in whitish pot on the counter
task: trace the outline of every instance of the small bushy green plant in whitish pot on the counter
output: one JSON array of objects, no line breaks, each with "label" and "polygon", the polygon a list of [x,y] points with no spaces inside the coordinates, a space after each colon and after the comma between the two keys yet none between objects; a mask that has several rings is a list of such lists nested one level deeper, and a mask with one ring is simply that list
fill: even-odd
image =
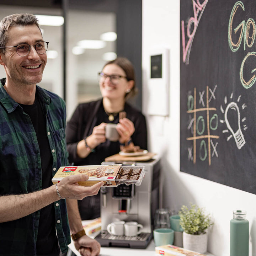
[{"label": "small bushy green plant in whitish pot on the counter", "polygon": [[210,215],[203,208],[191,204],[191,208],[182,206],[179,212],[180,225],[183,228],[183,247],[201,254],[207,252],[207,228],[213,225]]}]

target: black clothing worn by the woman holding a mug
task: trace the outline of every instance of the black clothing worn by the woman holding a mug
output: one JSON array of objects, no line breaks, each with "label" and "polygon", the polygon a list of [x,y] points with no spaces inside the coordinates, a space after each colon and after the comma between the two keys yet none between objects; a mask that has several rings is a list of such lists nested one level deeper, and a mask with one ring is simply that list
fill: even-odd
[{"label": "black clothing worn by the woman holding a mug", "polygon": [[[134,145],[147,149],[147,129],[144,115],[130,106],[125,104],[124,111],[127,118],[134,123],[135,132],[132,135]],[[66,125],[66,142],[69,152],[69,162],[74,165],[98,165],[101,164],[108,156],[117,154],[120,151],[119,142],[110,142],[106,140],[95,148],[94,153],[90,153],[86,158],[79,158],[76,155],[76,146],[80,140],[92,134],[95,126],[101,123],[118,123],[119,115],[114,117],[110,122],[108,115],[104,111],[102,99],[79,104],[73,113],[70,121]],[[81,218],[94,219],[100,217],[100,193],[96,196],[86,197],[78,201]]]}]

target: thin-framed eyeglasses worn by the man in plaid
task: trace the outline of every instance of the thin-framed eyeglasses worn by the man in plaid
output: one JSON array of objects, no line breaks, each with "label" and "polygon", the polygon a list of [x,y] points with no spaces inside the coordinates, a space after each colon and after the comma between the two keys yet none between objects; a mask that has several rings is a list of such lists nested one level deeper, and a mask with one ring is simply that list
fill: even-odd
[{"label": "thin-framed eyeglasses worn by the man in plaid", "polygon": [[[36,43],[34,45],[31,45],[31,46],[33,46],[36,49],[36,52],[38,54],[44,54],[47,51],[48,43],[49,42],[41,41],[41,42],[38,42],[38,43]],[[22,44],[18,44],[16,46],[3,46],[3,47],[0,47],[0,48],[15,47],[17,54],[20,55],[21,57],[25,57],[30,53],[30,47],[31,46],[29,44],[22,43]]]}]

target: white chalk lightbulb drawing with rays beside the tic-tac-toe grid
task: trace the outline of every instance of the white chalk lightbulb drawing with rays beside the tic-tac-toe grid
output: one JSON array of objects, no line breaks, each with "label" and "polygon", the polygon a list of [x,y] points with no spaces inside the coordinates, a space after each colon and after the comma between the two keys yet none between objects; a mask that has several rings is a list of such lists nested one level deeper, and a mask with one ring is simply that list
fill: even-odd
[{"label": "white chalk lightbulb drawing with rays beside the tic-tac-toe grid", "polygon": [[[238,102],[240,101],[240,97],[241,96],[238,97]],[[233,98],[233,92],[230,98]],[[226,97],[224,98],[224,102],[225,104],[227,103]],[[242,109],[244,109],[245,107],[246,105],[243,104]],[[227,138],[227,141],[229,141],[233,137],[237,148],[241,149],[246,142],[240,125],[240,110],[238,105],[236,104],[236,102],[232,101],[228,104],[228,106],[226,106],[225,112],[223,110],[222,105],[220,106],[220,110],[222,111],[222,113],[224,113],[224,120],[220,120],[220,122],[225,122],[228,128],[228,130],[223,130],[223,133],[228,133],[229,131],[231,132],[231,135]],[[245,120],[246,118],[242,118],[242,122],[244,122]],[[247,126],[244,125],[243,129],[246,130]]]}]

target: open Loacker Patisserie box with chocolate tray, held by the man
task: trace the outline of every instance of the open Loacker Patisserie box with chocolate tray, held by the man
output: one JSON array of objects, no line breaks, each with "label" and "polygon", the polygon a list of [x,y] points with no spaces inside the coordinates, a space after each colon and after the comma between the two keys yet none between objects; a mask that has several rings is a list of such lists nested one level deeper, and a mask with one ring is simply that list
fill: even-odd
[{"label": "open Loacker Patisserie box with chocolate tray, held by the man", "polygon": [[62,166],[52,178],[52,182],[56,184],[67,176],[86,174],[89,176],[89,180],[78,182],[79,185],[92,186],[97,182],[104,181],[104,186],[117,187],[123,183],[138,186],[144,177],[144,169],[145,166],[122,166],[121,164]]}]

